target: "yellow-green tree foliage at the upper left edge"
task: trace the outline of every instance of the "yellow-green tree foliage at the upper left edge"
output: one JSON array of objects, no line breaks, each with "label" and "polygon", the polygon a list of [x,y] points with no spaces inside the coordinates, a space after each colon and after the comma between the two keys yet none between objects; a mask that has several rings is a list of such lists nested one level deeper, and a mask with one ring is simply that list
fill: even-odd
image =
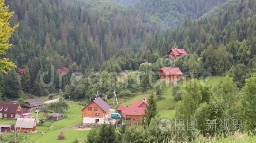
[{"label": "yellow-green tree foliage at the upper left edge", "polygon": [[[0,55],[6,54],[6,50],[9,49],[11,44],[8,43],[11,34],[14,32],[15,28],[10,26],[9,19],[12,17],[13,12],[8,12],[9,7],[4,6],[4,0],[0,0]],[[12,68],[16,68],[15,64],[9,61],[8,58],[0,57],[0,72],[7,74]]]}]

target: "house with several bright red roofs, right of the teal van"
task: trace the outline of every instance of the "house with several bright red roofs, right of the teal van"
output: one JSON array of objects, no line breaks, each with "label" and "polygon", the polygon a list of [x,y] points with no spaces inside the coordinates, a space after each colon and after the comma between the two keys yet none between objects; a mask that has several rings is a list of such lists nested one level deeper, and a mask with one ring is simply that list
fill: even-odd
[{"label": "house with several bright red roofs, right of the teal van", "polygon": [[131,125],[138,125],[141,123],[147,104],[147,99],[136,100],[133,102],[132,106],[125,106],[124,104],[120,105],[120,107],[117,108],[117,112]]}]

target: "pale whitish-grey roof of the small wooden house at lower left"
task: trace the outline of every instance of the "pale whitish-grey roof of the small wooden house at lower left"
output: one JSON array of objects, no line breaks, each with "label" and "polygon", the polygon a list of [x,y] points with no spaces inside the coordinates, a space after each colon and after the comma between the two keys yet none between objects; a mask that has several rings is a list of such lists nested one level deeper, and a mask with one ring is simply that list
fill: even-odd
[{"label": "pale whitish-grey roof of the small wooden house at lower left", "polygon": [[34,128],[37,126],[34,118],[18,118],[16,121],[16,128]]}]

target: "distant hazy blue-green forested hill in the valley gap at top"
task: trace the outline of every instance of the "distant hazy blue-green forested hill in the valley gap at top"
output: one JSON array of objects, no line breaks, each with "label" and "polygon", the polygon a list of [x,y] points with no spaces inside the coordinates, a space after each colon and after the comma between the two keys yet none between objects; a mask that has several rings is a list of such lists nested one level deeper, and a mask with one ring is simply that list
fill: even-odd
[{"label": "distant hazy blue-green forested hill in the valley gap at top", "polygon": [[[143,17],[157,16],[170,28],[176,28],[186,19],[199,18],[211,8],[225,2],[226,0],[139,0],[133,6]],[[120,3],[124,4],[122,1]]]}]

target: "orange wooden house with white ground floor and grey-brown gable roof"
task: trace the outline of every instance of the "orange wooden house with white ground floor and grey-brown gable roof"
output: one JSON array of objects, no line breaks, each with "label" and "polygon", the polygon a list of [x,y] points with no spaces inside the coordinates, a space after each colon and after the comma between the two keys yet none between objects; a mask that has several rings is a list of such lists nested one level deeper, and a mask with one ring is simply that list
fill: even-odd
[{"label": "orange wooden house with white ground floor and grey-brown gable roof", "polygon": [[102,98],[93,100],[81,110],[84,124],[103,124],[109,113],[110,105]]}]

